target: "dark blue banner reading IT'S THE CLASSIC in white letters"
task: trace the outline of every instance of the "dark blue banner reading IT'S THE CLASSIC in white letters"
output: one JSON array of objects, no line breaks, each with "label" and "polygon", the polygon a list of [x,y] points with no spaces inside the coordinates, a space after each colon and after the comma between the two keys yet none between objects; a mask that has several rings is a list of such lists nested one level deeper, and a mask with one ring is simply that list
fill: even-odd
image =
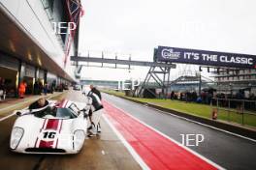
[{"label": "dark blue banner reading IT'S THE CLASSIC in white letters", "polygon": [[256,69],[256,55],[158,46],[157,61]]}]

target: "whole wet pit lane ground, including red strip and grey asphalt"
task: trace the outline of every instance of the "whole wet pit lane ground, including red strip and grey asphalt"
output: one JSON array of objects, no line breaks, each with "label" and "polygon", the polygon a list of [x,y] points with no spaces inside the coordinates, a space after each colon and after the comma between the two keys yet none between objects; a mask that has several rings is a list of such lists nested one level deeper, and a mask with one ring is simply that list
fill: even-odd
[{"label": "whole wet pit lane ground, including red strip and grey asphalt", "polygon": [[[53,99],[82,101],[84,97],[80,91],[70,91]],[[103,94],[103,102],[106,114],[101,122],[102,134],[85,140],[83,149],[78,155],[12,153],[9,150],[9,138],[16,116],[1,121],[0,167],[3,169],[141,169],[144,166],[140,158],[146,163],[145,167],[151,169],[198,170],[223,167],[250,170],[256,167],[255,142],[126,99]],[[22,108],[25,106],[26,104],[23,104]],[[6,116],[8,113],[0,112],[1,115]],[[106,117],[108,119],[105,119]],[[192,152],[188,152],[176,144],[176,141],[180,141],[180,133],[202,133],[206,141],[199,147],[191,147]],[[139,161],[129,147],[123,145],[125,144],[123,140],[119,140],[120,135],[130,147],[135,149],[136,154],[141,156]]]}]

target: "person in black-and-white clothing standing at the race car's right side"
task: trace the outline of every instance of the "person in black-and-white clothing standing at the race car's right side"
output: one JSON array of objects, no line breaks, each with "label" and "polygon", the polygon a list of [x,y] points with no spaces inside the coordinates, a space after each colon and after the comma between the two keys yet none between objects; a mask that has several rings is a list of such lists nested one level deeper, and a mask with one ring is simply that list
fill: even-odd
[{"label": "person in black-and-white clothing standing at the race car's right side", "polygon": [[87,97],[88,103],[90,104],[89,119],[91,123],[91,126],[88,128],[90,132],[88,136],[91,137],[100,132],[100,120],[104,109],[101,99],[98,97],[98,95],[90,91]]}]

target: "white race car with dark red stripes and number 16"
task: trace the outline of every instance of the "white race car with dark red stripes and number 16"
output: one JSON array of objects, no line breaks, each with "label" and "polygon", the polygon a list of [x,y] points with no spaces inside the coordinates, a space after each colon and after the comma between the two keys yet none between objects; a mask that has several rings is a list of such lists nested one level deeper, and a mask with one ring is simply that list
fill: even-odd
[{"label": "white race car with dark red stripes and number 16", "polygon": [[86,137],[87,112],[85,103],[66,99],[18,110],[10,148],[26,154],[77,154]]}]

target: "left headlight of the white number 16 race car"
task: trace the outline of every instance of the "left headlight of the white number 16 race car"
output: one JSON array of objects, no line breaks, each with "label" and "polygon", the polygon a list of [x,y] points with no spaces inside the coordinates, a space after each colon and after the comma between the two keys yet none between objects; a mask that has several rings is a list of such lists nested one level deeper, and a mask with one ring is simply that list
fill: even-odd
[{"label": "left headlight of the white number 16 race car", "polygon": [[12,135],[11,135],[11,141],[10,141],[10,147],[11,149],[15,150],[18,143],[20,142],[22,136],[24,133],[23,128],[13,128]]}]

